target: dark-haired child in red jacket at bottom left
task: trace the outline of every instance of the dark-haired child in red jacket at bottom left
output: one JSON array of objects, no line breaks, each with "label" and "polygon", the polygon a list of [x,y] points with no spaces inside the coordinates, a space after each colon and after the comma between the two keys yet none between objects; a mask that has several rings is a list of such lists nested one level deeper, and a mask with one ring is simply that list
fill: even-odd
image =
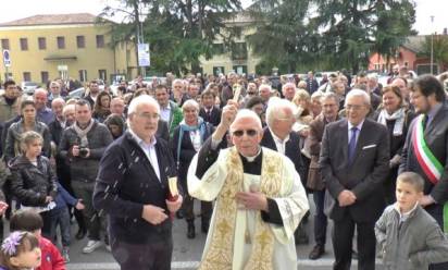
[{"label": "dark-haired child in red jacket at bottom left", "polygon": [[43,222],[39,213],[33,210],[18,210],[10,220],[10,231],[26,231],[33,233],[39,241],[41,265],[36,270],[66,270],[64,259],[51,241],[40,235]]}]

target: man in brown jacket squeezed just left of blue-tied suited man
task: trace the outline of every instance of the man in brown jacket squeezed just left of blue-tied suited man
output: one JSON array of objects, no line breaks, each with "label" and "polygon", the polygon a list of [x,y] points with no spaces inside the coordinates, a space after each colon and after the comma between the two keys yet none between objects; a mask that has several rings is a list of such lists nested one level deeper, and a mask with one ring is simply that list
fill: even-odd
[{"label": "man in brown jacket squeezed just left of blue-tied suited man", "polygon": [[[344,85],[343,85],[344,87]],[[334,93],[326,93],[321,98],[322,113],[310,123],[309,149],[311,156],[308,172],[307,187],[313,192],[315,205],[314,213],[314,241],[315,246],[309,258],[319,259],[325,253],[327,218],[324,213],[325,183],[319,172],[319,155],[324,128],[328,123],[338,120],[339,97]]]}]

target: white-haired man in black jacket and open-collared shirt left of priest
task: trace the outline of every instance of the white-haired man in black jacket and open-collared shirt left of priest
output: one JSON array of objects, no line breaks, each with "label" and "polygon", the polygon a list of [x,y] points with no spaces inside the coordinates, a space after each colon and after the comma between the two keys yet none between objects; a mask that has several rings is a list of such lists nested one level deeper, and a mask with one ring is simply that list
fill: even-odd
[{"label": "white-haired man in black jacket and open-collared shirt left of priest", "polygon": [[122,270],[171,269],[173,222],[182,196],[166,199],[176,175],[167,144],[154,135],[159,103],[142,95],[130,102],[128,130],[104,152],[94,204],[109,213],[112,255]]}]

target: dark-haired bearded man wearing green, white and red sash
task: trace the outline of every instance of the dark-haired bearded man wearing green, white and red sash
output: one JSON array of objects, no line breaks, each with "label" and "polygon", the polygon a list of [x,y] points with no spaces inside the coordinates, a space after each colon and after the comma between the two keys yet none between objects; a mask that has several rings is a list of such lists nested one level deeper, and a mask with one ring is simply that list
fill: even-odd
[{"label": "dark-haired bearded man wearing green, white and red sash", "polygon": [[[448,200],[448,106],[446,95],[439,81],[432,75],[420,76],[414,81],[411,103],[415,108],[416,116],[409,126],[408,136],[401,156],[398,173],[416,172],[425,180],[424,196],[420,205],[444,229],[444,205]],[[420,125],[420,126],[419,126]],[[419,134],[421,127],[422,136]],[[416,137],[415,137],[416,136]],[[419,151],[419,138],[426,144],[438,163],[428,165],[421,158],[424,152]],[[422,143],[422,140],[420,143]],[[438,168],[436,171],[430,168]],[[445,231],[446,233],[446,231]],[[448,263],[431,266],[430,269],[448,269]]]}]

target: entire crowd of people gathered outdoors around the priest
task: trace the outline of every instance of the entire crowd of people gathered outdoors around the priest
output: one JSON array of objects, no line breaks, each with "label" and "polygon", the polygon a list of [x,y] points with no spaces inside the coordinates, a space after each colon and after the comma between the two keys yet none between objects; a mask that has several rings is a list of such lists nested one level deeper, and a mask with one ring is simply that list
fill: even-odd
[{"label": "entire crowd of people gathered outdoors around the priest", "polygon": [[103,247],[121,269],[171,269],[173,219],[195,238],[196,217],[200,269],[296,269],[310,237],[309,258],[325,254],[328,219],[336,270],[353,253],[363,270],[378,256],[386,269],[448,269],[439,78],[169,75],[116,93],[91,81],[71,99],[61,79],[33,96],[4,82],[0,269],[65,269],[72,217],[83,253]]}]

